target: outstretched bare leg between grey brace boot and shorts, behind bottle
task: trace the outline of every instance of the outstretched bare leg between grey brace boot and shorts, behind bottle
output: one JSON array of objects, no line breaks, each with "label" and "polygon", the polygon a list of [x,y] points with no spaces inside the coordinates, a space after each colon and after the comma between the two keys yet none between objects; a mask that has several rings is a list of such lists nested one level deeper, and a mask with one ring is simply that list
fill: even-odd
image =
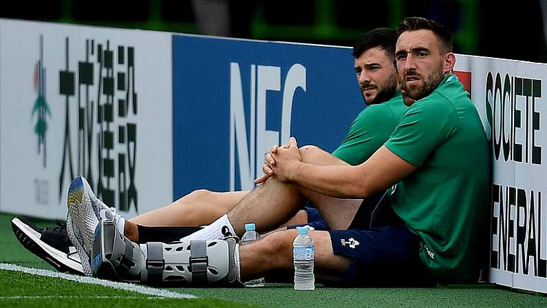
[{"label": "outstretched bare leg between grey brace boot and shorts, behind bottle", "polygon": [[[296,230],[285,230],[265,236],[255,243],[239,246],[242,280],[258,278],[272,270],[292,272],[292,241],[296,236]],[[311,231],[310,236],[315,247],[316,277],[323,281],[339,281],[350,266],[351,259],[334,254],[329,232]]]}]

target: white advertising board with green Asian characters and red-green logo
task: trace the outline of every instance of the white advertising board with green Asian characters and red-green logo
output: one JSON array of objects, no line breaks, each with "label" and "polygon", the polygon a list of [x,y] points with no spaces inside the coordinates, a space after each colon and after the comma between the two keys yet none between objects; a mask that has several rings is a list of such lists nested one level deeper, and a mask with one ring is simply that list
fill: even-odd
[{"label": "white advertising board with green Asian characters and red-green logo", "polygon": [[0,21],[0,209],[65,218],[85,176],[127,216],[171,201],[171,35]]}]

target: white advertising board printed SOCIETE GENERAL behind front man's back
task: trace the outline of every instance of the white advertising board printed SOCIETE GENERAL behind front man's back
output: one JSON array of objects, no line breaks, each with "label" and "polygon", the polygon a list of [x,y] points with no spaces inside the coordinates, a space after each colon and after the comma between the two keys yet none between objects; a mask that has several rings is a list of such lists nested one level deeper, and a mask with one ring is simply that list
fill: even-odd
[{"label": "white advertising board printed SOCIETE GENERAL behind front man's back", "polygon": [[492,138],[490,280],[547,292],[547,65],[458,55]]}]

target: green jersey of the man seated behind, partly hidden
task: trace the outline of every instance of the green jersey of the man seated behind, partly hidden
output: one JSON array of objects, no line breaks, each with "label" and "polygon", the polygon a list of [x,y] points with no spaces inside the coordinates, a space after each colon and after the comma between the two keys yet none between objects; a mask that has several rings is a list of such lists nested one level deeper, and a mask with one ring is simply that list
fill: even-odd
[{"label": "green jersey of the man seated behind, partly hidden", "polygon": [[363,163],[389,139],[407,109],[400,92],[385,103],[369,105],[356,116],[332,155],[350,165]]}]

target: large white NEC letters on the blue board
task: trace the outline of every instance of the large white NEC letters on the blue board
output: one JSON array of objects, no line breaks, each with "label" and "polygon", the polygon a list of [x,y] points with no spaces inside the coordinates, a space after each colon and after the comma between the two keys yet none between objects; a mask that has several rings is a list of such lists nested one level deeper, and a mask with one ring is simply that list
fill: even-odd
[{"label": "large white NEC letters on the blue board", "polygon": [[[306,69],[295,63],[281,84],[281,67],[250,65],[250,86],[242,85],[239,63],[230,63],[230,190],[235,190],[236,165],[242,190],[253,189],[253,180],[262,173],[264,153],[272,145],[287,143],[290,137],[292,101],[299,88],[306,90]],[[250,92],[250,101],[244,101],[244,90]],[[281,91],[281,101],[266,102],[267,91]],[[281,104],[281,132],[266,129],[266,103]],[[246,119],[245,107],[248,106]],[[271,120],[270,120],[271,121]],[[237,152],[236,152],[237,151]],[[236,156],[237,154],[237,156]],[[237,157],[237,161],[236,161]]]}]

